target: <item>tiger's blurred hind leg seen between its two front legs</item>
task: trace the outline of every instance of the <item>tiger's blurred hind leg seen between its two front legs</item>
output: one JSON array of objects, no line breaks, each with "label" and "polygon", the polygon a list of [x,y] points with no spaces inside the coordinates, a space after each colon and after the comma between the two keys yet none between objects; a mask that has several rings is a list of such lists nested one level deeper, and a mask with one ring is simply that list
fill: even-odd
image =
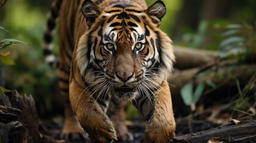
[{"label": "tiger's blurred hind leg seen between its two front legs", "polygon": [[127,126],[125,125],[126,107],[127,102],[118,102],[117,100],[112,98],[109,103],[107,115],[115,126],[118,141],[131,142],[134,140],[134,138],[132,134],[128,131]]}]

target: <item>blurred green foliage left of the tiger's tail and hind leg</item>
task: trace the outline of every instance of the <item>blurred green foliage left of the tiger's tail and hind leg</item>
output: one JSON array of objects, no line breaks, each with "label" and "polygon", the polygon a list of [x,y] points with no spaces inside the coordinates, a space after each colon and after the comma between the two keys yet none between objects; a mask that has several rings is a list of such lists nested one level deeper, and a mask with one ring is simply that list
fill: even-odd
[{"label": "blurred green foliage left of the tiger's tail and hind leg", "polygon": [[21,94],[31,94],[38,105],[39,114],[49,115],[53,109],[54,94],[58,94],[56,91],[58,84],[54,82],[58,76],[57,71],[44,62],[42,54],[41,39],[46,24],[47,10],[30,7],[27,1],[8,1],[4,8],[8,13],[5,13],[0,25],[10,32],[2,31],[4,33],[1,33],[0,39],[14,38],[30,43],[30,46],[27,46],[13,44],[19,41],[6,41],[13,47],[8,48],[10,52],[4,53],[16,61],[16,66],[2,65],[0,67],[5,73],[5,87],[17,89]]}]

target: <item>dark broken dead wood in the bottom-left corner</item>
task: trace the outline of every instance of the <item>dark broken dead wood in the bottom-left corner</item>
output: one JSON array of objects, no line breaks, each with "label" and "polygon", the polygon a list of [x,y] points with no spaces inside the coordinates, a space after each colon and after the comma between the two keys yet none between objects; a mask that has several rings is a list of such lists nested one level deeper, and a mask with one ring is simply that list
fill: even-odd
[{"label": "dark broken dead wood in the bottom-left corner", "polygon": [[[33,97],[22,96],[17,91],[1,90],[0,96],[1,135],[8,135],[9,142],[12,142],[14,136],[21,139],[15,142],[41,142],[38,113]],[[8,126],[8,130],[5,126]],[[17,133],[20,136],[17,136]]]}]

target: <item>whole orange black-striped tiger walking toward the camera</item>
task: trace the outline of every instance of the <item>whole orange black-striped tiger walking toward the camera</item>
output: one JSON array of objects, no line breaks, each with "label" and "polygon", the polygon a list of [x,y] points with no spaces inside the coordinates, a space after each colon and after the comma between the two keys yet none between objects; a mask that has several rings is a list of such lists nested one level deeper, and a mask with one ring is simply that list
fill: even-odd
[{"label": "whole orange black-striped tiger walking toward the camera", "polygon": [[[159,26],[164,2],[55,0],[44,33],[45,60],[59,68],[63,138],[88,133],[93,142],[132,142],[125,125],[131,102],[147,122],[141,142],[169,142],[175,119],[167,75],[172,41]],[[60,59],[52,49],[58,19]]]}]

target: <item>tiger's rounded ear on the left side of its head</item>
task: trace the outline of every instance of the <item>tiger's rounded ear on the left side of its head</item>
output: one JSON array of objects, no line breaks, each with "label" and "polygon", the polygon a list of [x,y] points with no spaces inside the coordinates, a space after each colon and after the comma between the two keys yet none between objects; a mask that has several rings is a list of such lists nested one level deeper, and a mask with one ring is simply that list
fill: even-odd
[{"label": "tiger's rounded ear on the left side of its head", "polygon": [[91,24],[101,14],[101,10],[92,1],[85,0],[82,4],[82,14],[86,18],[88,26],[91,27]]}]

